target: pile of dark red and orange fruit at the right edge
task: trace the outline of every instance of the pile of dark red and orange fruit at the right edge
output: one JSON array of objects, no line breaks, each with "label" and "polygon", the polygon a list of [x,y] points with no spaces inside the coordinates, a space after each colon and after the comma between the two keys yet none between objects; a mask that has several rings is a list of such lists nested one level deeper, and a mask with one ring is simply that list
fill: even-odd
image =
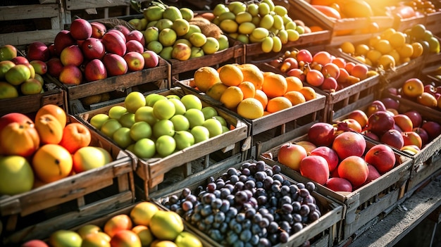
[{"label": "pile of dark red and orange fruit at the right edge", "polygon": [[412,155],[441,134],[440,123],[423,120],[417,110],[400,113],[399,101],[389,97],[373,101],[366,110],[353,110],[341,122],[347,122],[352,130],[366,137]]}]

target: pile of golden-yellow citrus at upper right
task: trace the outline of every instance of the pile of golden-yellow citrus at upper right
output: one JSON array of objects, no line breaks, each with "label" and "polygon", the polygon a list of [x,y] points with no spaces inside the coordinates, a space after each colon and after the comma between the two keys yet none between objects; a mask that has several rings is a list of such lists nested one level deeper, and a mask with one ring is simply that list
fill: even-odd
[{"label": "pile of golden-yellow citrus at upper right", "polygon": [[399,32],[388,28],[366,42],[343,42],[340,49],[361,63],[388,70],[428,53],[439,53],[440,42],[422,24]]}]

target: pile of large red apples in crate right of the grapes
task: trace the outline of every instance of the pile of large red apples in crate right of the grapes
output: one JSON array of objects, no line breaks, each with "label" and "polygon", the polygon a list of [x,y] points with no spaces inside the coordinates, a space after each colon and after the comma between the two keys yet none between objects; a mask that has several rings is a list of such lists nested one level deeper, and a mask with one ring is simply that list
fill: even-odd
[{"label": "pile of large red apples in crate right of the grapes", "polygon": [[372,144],[345,125],[313,124],[307,139],[280,146],[278,162],[333,191],[352,192],[398,164],[385,144]]}]

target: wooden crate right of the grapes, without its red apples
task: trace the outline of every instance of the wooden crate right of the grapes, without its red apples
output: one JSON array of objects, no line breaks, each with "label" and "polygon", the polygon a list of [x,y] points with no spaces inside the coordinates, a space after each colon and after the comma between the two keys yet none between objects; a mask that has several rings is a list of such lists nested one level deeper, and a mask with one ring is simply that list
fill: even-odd
[{"label": "wooden crate right of the grapes, without its red apples", "polygon": [[[307,131],[308,129],[304,129],[302,135],[290,140],[290,142],[307,141]],[[303,177],[300,175],[300,172],[294,171],[277,162],[280,146],[286,142],[287,141],[262,153],[260,158],[265,160],[268,164],[280,165],[282,172],[295,181],[311,182],[311,179]],[[366,151],[373,145],[375,145],[373,142],[366,139]],[[344,242],[352,237],[352,235],[356,234],[361,227],[366,226],[373,218],[378,217],[381,219],[384,217],[384,211],[391,206],[395,206],[399,198],[404,196],[406,181],[410,177],[412,160],[400,153],[395,153],[395,156],[397,158],[397,164],[392,170],[352,192],[335,192],[316,183],[318,193],[334,198],[345,205],[342,229],[340,229],[341,235],[339,235],[339,239],[337,239],[338,242]]]}]

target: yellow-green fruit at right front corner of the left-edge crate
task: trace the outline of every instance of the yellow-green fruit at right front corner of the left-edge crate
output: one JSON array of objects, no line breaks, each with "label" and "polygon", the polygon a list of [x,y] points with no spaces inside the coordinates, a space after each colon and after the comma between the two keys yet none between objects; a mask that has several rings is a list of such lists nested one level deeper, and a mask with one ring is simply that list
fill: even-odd
[{"label": "yellow-green fruit at right front corner of the left-edge crate", "polygon": [[[121,128],[123,129],[123,128]],[[84,146],[78,149],[72,156],[73,170],[85,172],[111,163],[111,154],[98,146]]]}]

